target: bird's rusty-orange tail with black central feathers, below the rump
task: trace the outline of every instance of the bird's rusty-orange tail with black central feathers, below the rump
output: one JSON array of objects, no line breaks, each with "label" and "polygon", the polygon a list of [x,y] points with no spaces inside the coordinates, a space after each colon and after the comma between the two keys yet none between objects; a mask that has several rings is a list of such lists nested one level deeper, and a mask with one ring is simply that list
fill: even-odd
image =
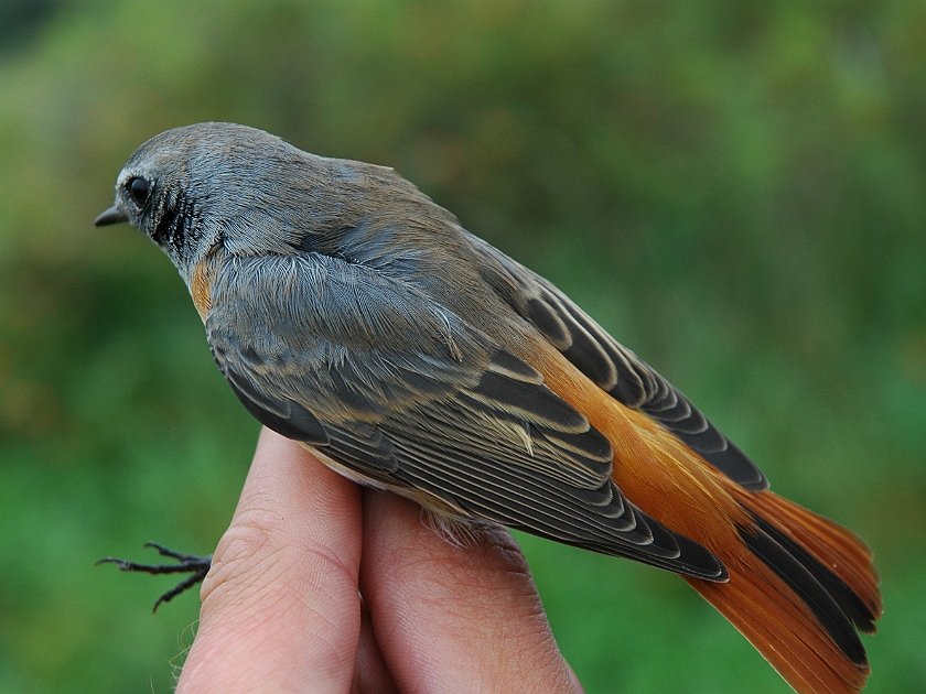
[{"label": "bird's rusty-orange tail with black central feathers, below the rump", "polygon": [[739,550],[722,557],[730,581],[686,581],[795,691],[859,692],[870,670],[855,629],[873,632],[882,610],[871,552],[775,494],[729,491],[749,514]]}]

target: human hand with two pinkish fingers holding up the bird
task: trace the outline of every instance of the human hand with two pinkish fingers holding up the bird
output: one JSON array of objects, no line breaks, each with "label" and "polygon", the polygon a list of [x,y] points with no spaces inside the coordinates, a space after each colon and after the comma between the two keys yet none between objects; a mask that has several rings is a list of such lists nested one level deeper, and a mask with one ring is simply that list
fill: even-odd
[{"label": "human hand with two pinkish fingers holding up the bird", "polygon": [[265,429],[177,694],[582,692],[512,535],[421,520]]}]

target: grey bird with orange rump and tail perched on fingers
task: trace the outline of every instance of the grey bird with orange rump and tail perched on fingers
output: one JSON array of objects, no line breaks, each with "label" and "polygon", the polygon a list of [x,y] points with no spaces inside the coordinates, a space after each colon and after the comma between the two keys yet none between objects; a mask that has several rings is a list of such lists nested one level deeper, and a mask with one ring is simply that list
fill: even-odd
[{"label": "grey bird with orange rump and tail perched on fingers", "polygon": [[196,123],[128,160],[95,225],[123,221],[176,267],[245,409],[337,473],[675,572],[796,692],[864,686],[858,632],[882,612],[864,542],[771,491],[655,369],[392,169]]}]

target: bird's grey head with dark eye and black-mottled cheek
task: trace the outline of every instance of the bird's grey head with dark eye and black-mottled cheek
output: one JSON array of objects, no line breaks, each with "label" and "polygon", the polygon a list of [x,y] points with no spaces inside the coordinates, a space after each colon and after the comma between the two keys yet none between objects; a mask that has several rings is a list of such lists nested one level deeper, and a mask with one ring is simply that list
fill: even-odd
[{"label": "bird's grey head with dark eye and black-mottled cheek", "polygon": [[390,170],[303,152],[262,130],[197,123],[136,150],[116,182],[116,203],[96,226],[128,221],[190,281],[222,246],[236,254],[312,250],[356,223],[370,176]]}]

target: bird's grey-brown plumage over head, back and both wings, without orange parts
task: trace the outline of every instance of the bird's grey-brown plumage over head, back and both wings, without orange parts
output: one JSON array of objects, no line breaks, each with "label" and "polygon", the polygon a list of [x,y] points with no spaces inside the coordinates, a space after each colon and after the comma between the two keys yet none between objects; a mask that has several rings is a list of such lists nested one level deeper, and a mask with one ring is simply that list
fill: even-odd
[{"label": "bird's grey-brown plumage over head, back and both wings, without orange parts", "polygon": [[263,424],[432,510],[723,579],[623,496],[607,440],[515,355],[547,339],[731,478],[764,488],[758,469],[552,284],[391,170],[190,126],[131,156],[100,223],[121,219],[194,297],[205,278],[213,355]]}]

